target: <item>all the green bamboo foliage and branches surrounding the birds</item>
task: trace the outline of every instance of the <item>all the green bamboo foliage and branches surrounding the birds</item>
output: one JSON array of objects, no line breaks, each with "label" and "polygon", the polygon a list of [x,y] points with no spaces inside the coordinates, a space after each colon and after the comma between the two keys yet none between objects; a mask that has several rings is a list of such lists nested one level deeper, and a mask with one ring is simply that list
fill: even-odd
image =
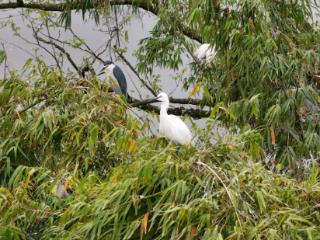
[{"label": "all the green bamboo foliage and branches surrounding the birds", "polygon": [[[130,19],[119,22],[115,5],[157,15],[136,65],[120,44]],[[316,1],[0,3],[10,8],[27,8],[34,44],[55,66],[36,55],[0,81],[0,239],[318,239]],[[74,11],[117,23],[102,50],[73,32]],[[50,34],[61,28],[72,41]],[[210,65],[195,59],[200,43],[216,46]],[[81,64],[72,48],[88,54]],[[170,111],[207,118],[193,126],[196,146],[150,136],[128,109],[157,107],[108,93],[92,67],[108,49],[152,95],[154,68],[179,72],[183,54],[194,59],[181,86],[189,98],[172,97],[181,106]]]}]

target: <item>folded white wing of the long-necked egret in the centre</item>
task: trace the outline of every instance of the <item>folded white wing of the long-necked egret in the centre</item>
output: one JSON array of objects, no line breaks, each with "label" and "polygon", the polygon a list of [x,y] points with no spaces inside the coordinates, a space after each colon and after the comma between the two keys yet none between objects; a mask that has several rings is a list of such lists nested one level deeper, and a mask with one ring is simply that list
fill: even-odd
[{"label": "folded white wing of the long-necked egret in the centre", "polygon": [[168,137],[180,144],[190,143],[192,134],[188,126],[175,115],[168,115],[168,120]]}]

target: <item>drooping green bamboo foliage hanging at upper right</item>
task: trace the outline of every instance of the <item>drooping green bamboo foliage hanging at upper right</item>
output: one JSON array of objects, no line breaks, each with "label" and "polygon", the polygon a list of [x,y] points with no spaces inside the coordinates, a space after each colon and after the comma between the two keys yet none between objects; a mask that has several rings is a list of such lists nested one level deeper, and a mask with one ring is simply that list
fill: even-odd
[{"label": "drooping green bamboo foliage hanging at upper right", "polygon": [[195,64],[185,87],[201,86],[214,109],[224,106],[214,113],[216,120],[260,129],[265,151],[276,144],[277,162],[287,166],[284,159],[290,158],[291,167],[297,166],[320,151],[320,145],[310,148],[310,139],[320,136],[314,78],[320,72],[320,28],[312,20],[318,11],[310,0],[165,1],[151,36],[140,44],[138,69],[146,74],[154,66],[178,69],[180,53],[194,48],[189,38],[215,45],[214,62],[206,68]]}]

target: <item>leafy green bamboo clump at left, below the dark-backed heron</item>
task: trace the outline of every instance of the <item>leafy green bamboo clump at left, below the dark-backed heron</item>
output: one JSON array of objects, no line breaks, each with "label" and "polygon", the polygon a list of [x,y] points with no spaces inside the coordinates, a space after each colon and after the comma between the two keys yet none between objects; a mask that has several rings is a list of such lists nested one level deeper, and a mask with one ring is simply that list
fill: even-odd
[{"label": "leafy green bamboo clump at left, below the dark-backed heron", "polygon": [[[80,167],[84,172],[89,165],[107,169],[106,162],[99,163],[102,158],[129,149],[139,124],[123,120],[120,98],[100,90],[95,80],[66,81],[42,63],[34,67],[41,75],[32,84],[14,75],[1,82],[1,181],[20,164]],[[119,149],[110,149],[113,144]],[[112,156],[109,166],[115,164]]]}]

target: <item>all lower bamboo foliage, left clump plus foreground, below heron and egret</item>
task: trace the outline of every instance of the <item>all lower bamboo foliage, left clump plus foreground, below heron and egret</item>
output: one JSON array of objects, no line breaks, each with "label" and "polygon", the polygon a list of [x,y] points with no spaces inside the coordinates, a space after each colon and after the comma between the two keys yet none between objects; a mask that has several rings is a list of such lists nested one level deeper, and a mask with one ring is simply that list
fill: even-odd
[{"label": "all lower bamboo foliage, left clump plus foreground, below heron and egret", "polygon": [[[304,180],[266,170],[263,138],[249,129],[198,149],[144,136],[104,84],[30,64],[40,74],[1,82],[1,238],[320,234],[317,164]],[[243,104],[251,111],[259,96]],[[55,192],[61,182],[72,189],[64,197]]]}]

